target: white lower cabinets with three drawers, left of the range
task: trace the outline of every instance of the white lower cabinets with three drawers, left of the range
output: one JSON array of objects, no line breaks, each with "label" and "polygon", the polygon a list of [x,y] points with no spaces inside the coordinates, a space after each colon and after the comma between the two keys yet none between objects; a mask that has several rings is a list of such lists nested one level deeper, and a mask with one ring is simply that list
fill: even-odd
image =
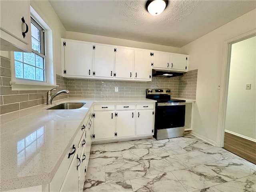
[{"label": "white lower cabinets with three drawers, left of the range", "polygon": [[94,105],[94,141],[153,135],[154,109],[154,103]]}]

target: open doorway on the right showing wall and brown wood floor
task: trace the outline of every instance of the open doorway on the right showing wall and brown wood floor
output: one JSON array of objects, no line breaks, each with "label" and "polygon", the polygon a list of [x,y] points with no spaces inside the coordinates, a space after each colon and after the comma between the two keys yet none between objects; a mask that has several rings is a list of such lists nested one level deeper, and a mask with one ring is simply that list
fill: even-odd
[{"label": "open doorway on the right showing wall and brown wood floor", "polygon": [[256,36],[229,46],[223,148],[256,164]]}]

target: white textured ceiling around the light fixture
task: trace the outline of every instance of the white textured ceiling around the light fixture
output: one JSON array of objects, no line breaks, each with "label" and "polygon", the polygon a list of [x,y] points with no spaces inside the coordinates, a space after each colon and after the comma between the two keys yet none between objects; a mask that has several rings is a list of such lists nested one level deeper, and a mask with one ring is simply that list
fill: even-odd
[{"label": "white textured ceiling around the light fixture", "polygon": [[173,0],[150,15],[142,0],[52,0],[67,31],[182,47],[256,8],[254,0]]}]

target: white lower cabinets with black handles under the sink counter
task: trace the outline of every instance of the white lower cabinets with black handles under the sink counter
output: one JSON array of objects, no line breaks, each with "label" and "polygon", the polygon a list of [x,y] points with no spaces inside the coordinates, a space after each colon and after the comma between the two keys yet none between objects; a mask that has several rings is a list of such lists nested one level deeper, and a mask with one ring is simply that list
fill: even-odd
[{"label": "white lower cabinets with black handles under the sink counter", "polygon": [[79,131],[70,146],[70,150],[60,164],[52,182],[50,192],[82,192],[86,167],[92,143],[92,114],[89,113],[79,127]]}]

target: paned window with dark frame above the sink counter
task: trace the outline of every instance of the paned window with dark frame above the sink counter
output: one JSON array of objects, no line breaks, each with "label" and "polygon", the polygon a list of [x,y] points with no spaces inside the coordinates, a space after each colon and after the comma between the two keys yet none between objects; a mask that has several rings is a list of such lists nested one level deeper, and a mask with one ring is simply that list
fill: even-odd
[{"label": "paned window with dark frame above the sink counter", "polygon": [[46,81],[44,29],[31,18],[32,53],[14,52],[15,77]]}]

